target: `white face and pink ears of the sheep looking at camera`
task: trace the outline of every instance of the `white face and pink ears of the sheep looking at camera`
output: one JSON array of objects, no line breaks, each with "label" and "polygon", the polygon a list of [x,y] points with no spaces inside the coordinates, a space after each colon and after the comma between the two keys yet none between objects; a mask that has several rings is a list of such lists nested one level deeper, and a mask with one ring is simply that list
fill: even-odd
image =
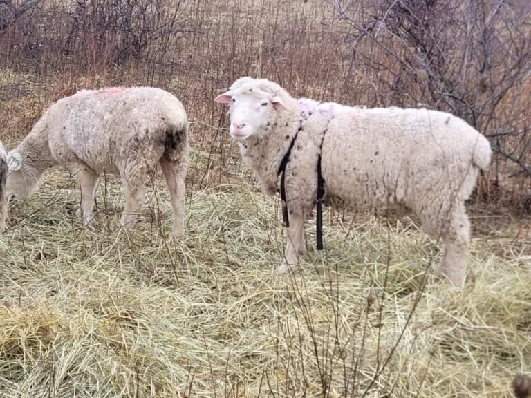
[{"label": "white face and pink ears of the sheep looking at camera", "polygon": [[252,135],[265,133],[277,120],[278,113],[286,109],[279,97],[259,88],[227,91],[215,101],[230,105],[230,135],[235,140],[247,140]]}]

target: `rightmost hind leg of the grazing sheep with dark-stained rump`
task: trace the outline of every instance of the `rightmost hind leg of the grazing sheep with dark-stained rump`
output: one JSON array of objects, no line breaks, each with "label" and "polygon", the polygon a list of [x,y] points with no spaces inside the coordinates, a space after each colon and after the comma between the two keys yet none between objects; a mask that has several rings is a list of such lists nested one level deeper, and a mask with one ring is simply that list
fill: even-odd
[{"label": "rightmost hind leg of the grazing sheep with dark-stained rump", "polygon": [[165,158],[160,160],[160,167],[168,186],[171,207],[174,209],[174,237],[180,239],[185,236],[186,171],[179,163]]}]

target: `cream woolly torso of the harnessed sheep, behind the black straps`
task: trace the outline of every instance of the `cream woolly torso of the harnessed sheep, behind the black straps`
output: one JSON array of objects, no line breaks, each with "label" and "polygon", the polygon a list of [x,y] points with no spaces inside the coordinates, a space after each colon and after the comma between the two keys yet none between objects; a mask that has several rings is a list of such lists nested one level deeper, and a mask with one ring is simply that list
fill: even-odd
[{"label": "cream woolly torso of the harnessed sheep, behind the black straps", "polygon": [[331,120],[322,149],[327,195],[349,205],[411,206],[419,195],[463,178],[481,138],[448,113],[342,110]]}]

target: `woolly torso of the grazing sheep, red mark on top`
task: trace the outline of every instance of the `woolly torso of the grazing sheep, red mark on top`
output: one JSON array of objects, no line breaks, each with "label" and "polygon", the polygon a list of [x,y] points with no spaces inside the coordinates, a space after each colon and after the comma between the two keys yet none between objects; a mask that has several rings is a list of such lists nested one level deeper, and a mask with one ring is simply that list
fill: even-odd
[{"label": "woolly torso of the grazing sheep, red mark on top", "polygon": [[50,107],[50,150],[61,163],[115,171],[131,156],[158,160],[167,131],[186,123],[183,105],[158,88],[80,91]]}]

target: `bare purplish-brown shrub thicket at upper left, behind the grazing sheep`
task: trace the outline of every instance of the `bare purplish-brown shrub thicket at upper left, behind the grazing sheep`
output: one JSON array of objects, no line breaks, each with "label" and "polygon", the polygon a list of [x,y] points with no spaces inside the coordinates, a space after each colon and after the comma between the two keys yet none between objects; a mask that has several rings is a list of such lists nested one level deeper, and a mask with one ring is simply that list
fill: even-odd
[{"label": "bare purplish-brown shrub thicket at upper left, behind the grazing sheep", "polygon": [[159,59],[185,23],[183,0],[26,3],[18,8],[4,6],[1,41],[10,59],[25,58],[48,66],[66,62],[85,70],[102,70],[126,61]]}]

